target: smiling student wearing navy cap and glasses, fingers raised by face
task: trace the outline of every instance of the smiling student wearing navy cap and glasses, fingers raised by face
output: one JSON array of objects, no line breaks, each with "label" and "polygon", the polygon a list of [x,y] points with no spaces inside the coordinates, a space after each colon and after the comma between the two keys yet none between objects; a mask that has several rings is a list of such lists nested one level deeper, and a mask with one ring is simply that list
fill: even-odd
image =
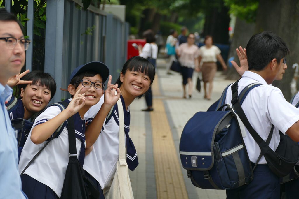
[{"label": "smiling student wearing navy cap and glasses, fingers raised by face", "polygon": [[[68,85],[68,92],[72,98],[65,100],[69,103],[68,107],[61,111],[57,106],[50,106],[35,119],[29,133],[30,139],[26,141],[20,157],[20,173],[39,149],[45,145],[46,140],[53,136],[53,132],[62,123],[64,123],[64,127],[21,177],[22,189],[29,198],[60,198],[69,160],[68,130],[65,125],[67,125],[66,120],[71,116],[74,118],[77,158],[83,165],[85,147],[90,149],[92,147],[90,143],[93,143],[100,133],[93,128],[102,128],[105,116],[120,96],[117,85],[110,85],[110,75],[108,88],[105,91],[106,104],[97,113],[95,120],[85,129],[84,114],[100,100],[105,86],[103,82],[106,81],[108,75],[108,67],[97,61],[75,68]],[[115,91],[118,92],[117,95],[115,95]],[[106,112],[103,111],[105,108]]]}]

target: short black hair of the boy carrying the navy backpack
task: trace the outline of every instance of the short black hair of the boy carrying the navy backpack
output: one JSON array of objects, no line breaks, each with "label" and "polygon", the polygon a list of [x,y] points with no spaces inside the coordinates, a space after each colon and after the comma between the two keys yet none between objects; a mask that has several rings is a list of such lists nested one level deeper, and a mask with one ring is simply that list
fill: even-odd
[{"label": "short black hair of the boy carrying the navy backpack", "polygon": [[279,63],[289,53],[282,38],[270,31],[252,36],[246,46],[249,70],[263,70],[274,58]]}]

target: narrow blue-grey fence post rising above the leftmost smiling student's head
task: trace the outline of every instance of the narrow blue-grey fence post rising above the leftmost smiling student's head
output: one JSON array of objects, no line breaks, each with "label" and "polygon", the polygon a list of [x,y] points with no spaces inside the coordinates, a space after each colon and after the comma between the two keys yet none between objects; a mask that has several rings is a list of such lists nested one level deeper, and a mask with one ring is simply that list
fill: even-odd
[{"label": "narrow blue-grey fence post rising above the leftmost smiling student's head", "polygon": [[33,56],[33,21],[34,21],[34,1],[28,0],[27,18],[27,36],[31,39],[31,44],[26,51],[26,70],[32,71],[32,56]]}]

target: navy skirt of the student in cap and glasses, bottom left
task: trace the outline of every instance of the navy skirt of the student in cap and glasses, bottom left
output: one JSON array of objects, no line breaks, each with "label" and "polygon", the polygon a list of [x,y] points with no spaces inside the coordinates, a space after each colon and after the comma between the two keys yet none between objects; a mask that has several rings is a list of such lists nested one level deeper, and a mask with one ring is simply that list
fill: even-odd
[{"label": "navy skirt of the student in cap and glasses, bottom left", "polygon": [[22,189],[29,199],[59,199],[47,185],[31,178],[27,174],[21,176]]}]

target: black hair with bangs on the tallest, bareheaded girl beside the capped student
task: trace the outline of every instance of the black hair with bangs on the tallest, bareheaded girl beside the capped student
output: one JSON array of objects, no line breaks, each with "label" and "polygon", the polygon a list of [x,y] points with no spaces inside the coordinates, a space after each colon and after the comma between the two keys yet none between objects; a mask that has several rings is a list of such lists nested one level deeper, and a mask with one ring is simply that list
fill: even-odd
[{"label": "black hair with bangs on the tallest, bareheaded girl beside the capped student", "polygon": [[[123,65],[123,69],[121,70],[121,72],[123,73],[123,75],[125,75],[128,70],[139,71],[148,75],[150,79],[150,84],[152,84],[152,82],[155,79],[156,71],[154,65],[152,65],[152,63],[150,63],[147,59],[143,57],[135,56],[126,61],[126,63]],[[122,82],[120,81],[120,76],[116,80],[115,84],[118,84],[118,87],[121,86]],[[142,95],[138,96],[137,98],[141,97]]]}]

